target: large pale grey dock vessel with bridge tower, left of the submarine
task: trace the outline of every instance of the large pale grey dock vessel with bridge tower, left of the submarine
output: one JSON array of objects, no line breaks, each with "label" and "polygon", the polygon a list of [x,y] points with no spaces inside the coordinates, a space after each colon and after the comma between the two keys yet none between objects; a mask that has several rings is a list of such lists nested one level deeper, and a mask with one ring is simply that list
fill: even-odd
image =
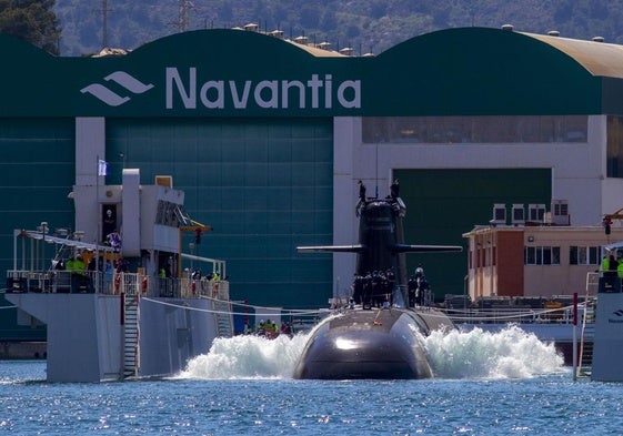
[{"label": "large pale grey dock vessel with bridge tower, left of the submarine", "polygon": [[[124,170],[122,185],[72,194],[78,224],[102,220],[79,232],[46,222],[16,230],[8,272],[6,298],[20,324],[47,325],[48,382],[173,375],[232,335],[225,263],[182,253],[185,232],[197,243],[210,230],[185,215],[183,192],[140,185],[138,170]],[[119,246],[102,244],[117,229]]]}]

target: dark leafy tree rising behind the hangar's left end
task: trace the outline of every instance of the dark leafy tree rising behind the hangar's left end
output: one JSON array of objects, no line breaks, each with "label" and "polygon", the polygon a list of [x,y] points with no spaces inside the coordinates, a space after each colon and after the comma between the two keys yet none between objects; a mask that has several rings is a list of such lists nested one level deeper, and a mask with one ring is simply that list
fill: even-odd
[{"label": "dark leafy tree rising behind the hangar's left end", "polygon": [[0,33],[59,54],[61,28],[52,11],[54,3],[56,0],[0,0]]}]

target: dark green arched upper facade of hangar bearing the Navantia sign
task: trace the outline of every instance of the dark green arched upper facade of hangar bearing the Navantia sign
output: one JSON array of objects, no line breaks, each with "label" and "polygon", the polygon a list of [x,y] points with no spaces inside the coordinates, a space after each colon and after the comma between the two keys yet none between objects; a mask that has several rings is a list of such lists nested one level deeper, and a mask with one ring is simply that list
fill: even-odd
[{"label": "dark green arched upper facade of hangar bearing the Navantia sign", "polygon": [[602,95],[621,110],[623,88],[535,38],[484,28],[371,58],[315,57],[238,30],[178,33],[124,57],[53,58],[7,36],[0,51],[11,59],[2,116],[595,114]]}]

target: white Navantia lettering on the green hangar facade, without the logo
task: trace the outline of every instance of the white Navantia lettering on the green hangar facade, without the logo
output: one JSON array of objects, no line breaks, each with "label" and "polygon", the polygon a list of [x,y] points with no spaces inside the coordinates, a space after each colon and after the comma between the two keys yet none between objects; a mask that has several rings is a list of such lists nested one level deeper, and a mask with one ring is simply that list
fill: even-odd
[{"label": "white Navantia lettering on the green hangar facade, without the logo", "polygon": [[[165,69],[165,104],[173,109],[197,109],[198,101],[207,109],[248,109],[257,105],[262,109],[290,109],[298,102],[298,109],[344,109],[361,108],[361,80],[336,82],[334,91],[331,74],[311,74],[307,81],[299,80],[208,80],[198,81],[197,68],[181,73],[178,68]],[[199,89],[199,93],[197,90]],[[199,99],[198,99],[199,98]]]}]

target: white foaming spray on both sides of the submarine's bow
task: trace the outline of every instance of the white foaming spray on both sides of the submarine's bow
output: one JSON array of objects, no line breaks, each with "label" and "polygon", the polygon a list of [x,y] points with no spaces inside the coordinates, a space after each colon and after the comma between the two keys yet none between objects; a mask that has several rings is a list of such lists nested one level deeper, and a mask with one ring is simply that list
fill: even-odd
[{"label": "white foaming spray on both sides of the submarine's bow", "polygon": [[[208,354],[189,362],[180,377],[291,378],[309,336],[218,338]],[[422,342],[439,378],[525,378],[561,372],[564,364],[553,344],[518,326],[499,333],[480,328],[433,332]]]}]

